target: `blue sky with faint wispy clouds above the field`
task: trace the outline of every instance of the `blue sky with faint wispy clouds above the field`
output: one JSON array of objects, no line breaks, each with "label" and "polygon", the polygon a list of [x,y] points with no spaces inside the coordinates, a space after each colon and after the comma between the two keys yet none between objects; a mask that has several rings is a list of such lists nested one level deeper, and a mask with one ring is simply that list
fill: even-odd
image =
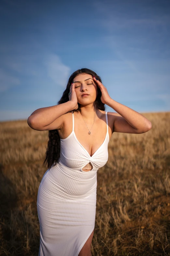
[{"label": "blue sky with faint wispy clouds above the field", "polygon": [[1,0],[0,120],[56,105],[80,68],[135,111],[170,111],[169,10],[169,0]]}]

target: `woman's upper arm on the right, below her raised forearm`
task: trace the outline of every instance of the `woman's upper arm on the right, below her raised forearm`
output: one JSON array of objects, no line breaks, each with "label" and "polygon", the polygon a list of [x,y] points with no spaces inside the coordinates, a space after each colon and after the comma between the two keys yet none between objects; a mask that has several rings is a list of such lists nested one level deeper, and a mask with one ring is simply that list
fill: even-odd
[{"label": "woman's upper arm on the right, below her raised forearm", "polygon": [[132,127],[120,114],[114,112],[109,113],[111,113],[113,118],[113,132],[141,133]]}]

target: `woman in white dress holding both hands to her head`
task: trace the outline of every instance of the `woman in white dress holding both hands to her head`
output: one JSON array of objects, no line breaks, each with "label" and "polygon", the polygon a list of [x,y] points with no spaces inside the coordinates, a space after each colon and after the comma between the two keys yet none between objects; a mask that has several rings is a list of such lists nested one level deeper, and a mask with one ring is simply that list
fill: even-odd
[{"label": "woman in white dress holding both hands to her head", "polygon": [[[105,104],[115,112],[105,112]],[[35,130],[49,130],[48,163],[37,196],[39,256],[90,256],[97,170],[108,160],[113,132],[144,133],[151,122],[114,101],[101,78],[82,68],[69,78],[58,105],[35,110]]]}]

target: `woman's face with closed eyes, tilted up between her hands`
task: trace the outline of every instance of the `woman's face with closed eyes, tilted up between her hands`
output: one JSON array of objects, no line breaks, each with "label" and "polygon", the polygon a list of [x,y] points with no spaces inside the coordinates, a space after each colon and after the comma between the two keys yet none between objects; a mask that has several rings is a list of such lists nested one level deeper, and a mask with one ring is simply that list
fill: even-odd
[{"label": "woman's face with closed eyes, tilted up between her hands", "polygon": [[[93,80],[92,75],[79,74],[77,77],[73,79],[73,81],[75,83],[75,92],[79,104],[88,105],[96,100],[97,83]],[[89,95],[82,96],[83,93],[87,93]]]}]

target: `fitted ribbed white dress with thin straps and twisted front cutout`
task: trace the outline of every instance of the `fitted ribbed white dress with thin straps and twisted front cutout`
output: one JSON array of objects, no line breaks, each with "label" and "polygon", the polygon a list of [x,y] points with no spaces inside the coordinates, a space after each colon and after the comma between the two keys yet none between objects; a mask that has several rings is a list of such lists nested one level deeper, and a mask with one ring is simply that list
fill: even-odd
[{"label": "fitted ribbed white dress with thin straps and twisted front cutout", "polygon": [[[58,163],[47,170],[37,195],[40,224],[38,256],[78,256],[94,229],[97,170],[108,160],[108,121],[104,142],[90,156],[73,130],[60,139]],[[91,162],[93,168],[82,168]]]}]

